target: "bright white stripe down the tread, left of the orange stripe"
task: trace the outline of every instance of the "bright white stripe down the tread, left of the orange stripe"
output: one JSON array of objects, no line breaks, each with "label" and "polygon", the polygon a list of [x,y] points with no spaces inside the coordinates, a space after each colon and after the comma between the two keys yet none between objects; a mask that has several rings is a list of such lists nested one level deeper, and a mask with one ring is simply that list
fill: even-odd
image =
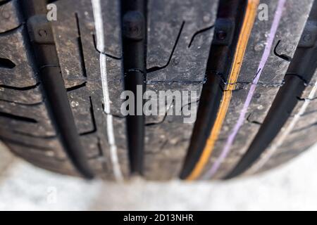
[{"label": "bright white stripe down the tread, left of the orange stripe", "polygon": [[107,80],[107,67],[106,67],[106,54],[104,53],[104,21],[101,13],[100,0],[92,0],[92,11],[94,13],[94,24],[96,30],[96,41],[97,49],[100,52],[100,73],[101,73],[101,84],[102,91],[104,94],[104,112],[106,113],[107,119],[107,135],[108,143],[110,145],[111,162],[113,165],[113,174],[117,181],[123,180],[123,175],[120,169],[120,163],[118,160],[118,151],[116,146],[116,139],[113,131],[113,117],[111,113],[108,80]]}]

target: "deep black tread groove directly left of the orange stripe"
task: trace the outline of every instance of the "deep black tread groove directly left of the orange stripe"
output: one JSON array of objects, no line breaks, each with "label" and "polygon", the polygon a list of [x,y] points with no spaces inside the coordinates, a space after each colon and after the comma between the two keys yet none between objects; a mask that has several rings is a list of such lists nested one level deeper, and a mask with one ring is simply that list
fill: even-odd
[{"label": "deep black tread groove directly left of the orange stripe", "polygon": [[[192,134],[191,143],[185,158],[183,165],[182,173],[180,177],[182,179],[189,179],[189,177],[197,176],[197,168],[199,163],[202,162],[201,159],[205,152],[209,138],[209,133],[215,122],[218,115],[218,110],[220,107],[220,101],[224,101],[223,93],[225,92],[225,85],[223,80],[227,81],[230,79],[230,70],[234,67],[232,65],[235,62],[234,54],[235,51],[232,49],[238,49],[240,46],[237,46],[240,33],[242,33],[242,23],[247,21],[245,17],[245,12],[247,11],[247,5],[245,1],[228,1],[220,3],[218,7],[218,19],[219,21],[231,20],[235,21],[235,27],[237,27],[233,33],[232,42],[227,45],[212,44],[211,51],[209,52],[209,61],[206,68],[206,83],[203,85],[200,105],[198,109],[197,121]],[[231,13],[223,13],[231,12]],[[217,22],[216,22],[217,23]],[[216,25],[217,26],[217,25]],[[236,50],[237,51],[237,50]],[[206,162],[204,162],[206,163]],[[197,178],[197,177],[195,177]],[[194,178],[190,178],[194,179]]]}]

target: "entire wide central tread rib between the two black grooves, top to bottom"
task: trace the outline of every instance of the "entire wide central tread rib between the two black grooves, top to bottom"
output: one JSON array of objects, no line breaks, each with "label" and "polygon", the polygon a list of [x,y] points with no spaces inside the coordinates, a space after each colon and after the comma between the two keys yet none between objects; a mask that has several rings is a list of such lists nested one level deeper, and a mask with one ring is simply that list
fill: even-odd
[{"label": "entire wide central tread rib between the two black grooves, top to bottom", "polygon": [[[218,1],[150,0],[148,4],[147,90],[156,94],[161,90],[197,91],[198,101]],[[164,101],[160,105],[168,108]],[[194,124],[184,124],[182,116],[162,115],[147,116],[146,122],[151,126],[145,132],[144,176],[159,180],[177,177]]]}]

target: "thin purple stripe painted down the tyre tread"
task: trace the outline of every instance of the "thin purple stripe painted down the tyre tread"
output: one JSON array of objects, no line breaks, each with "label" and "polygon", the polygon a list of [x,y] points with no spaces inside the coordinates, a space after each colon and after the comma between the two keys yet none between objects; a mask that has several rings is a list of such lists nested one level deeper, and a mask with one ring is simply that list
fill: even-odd
[{"label": "thin purple stripe painted down the tyre tread", "polygon": [[270,56],[271,49],[273,46],[273,41],[275,38],[276,31],[278,30],[278,25],[280,23],[280,18],[282,17],[282,12],[285,6],[286,0],[279,0],[278,6],[275,11],[273,23],[271,26],[270,33],[268,34],[268,39],[266,40],[266,48],[263,51],[263,55],[261,58],[261,61],[259,63],[259,68],[257,70],[256,76],[253,79],[253,82],[251,84],[251,87],[249,89],[249,93],[247,95],[247,98],[244,102],[243,108],[240,111],[239,119],[237,120],[237,123],[235,124],[235,127],[232,129],[230,135],[228,136],[228,139],[225,143],[225,146],[223,150],[221,151],[219,157],[217,158],[216,162],[213,163],[213,166],[209,171],[206,172],[204,175],[204,179],[211,179],[211,177],[216,174],[218,171],[221,163],[223,160],[227,157],[228,153],[230,153],[230,148],[232,147],[233,141],[235,141],[235,137],[237,136],[237,133],[239,132],[240,128],[242,127],[242,124],[245,120],[245,115],[247,114],[247,109],[249,108],[249,105],[251,103],[251,99],[254,95],[254,91],[256,90],[256,84],[258,84],[259,79],[261,77],[261,73],[263,71],[264,66],[266,65],[266,62],[268,60],[268,57]]}]

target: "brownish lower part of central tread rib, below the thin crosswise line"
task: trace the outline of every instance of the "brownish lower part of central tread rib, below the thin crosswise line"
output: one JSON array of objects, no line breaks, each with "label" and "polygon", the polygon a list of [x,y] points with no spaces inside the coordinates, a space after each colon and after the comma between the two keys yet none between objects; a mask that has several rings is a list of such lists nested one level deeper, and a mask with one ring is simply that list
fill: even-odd
[{"label": "brownish lower part of central tread rib, below the thin crosswise line", "polygon": [[[197,98],[192,100],[197,102],[201,92],[201,84],[149,84],[147,89],[156,94],[168,89],[172,92],[173,90],[197,91]],[[166,180],[178,176],[194,127],[194,121],[193,123],[184,123],[187,116],[183,115],[182,108],[178,112],[181,115],[176,115],[176,110],[179,109],[176,109],[175,103],[172,105],[166,105],[166,101],[161,101],[161,103],[161,107],[166,107],[168,110],[166,115],[146,117],[148,125],[145,132],[144,176],[154,180]],[[189,101],[187,104],[189,103],[191,102]],[[180,106],[186,105],[182,102]],[[187,106],[190,109],[190,106]],[[168,113],[173,114],[168,115]],[[197,108],[194,109],[194,113],[197,113]],[[196,118],[196,115],[192,115],[192,117]]]}]

